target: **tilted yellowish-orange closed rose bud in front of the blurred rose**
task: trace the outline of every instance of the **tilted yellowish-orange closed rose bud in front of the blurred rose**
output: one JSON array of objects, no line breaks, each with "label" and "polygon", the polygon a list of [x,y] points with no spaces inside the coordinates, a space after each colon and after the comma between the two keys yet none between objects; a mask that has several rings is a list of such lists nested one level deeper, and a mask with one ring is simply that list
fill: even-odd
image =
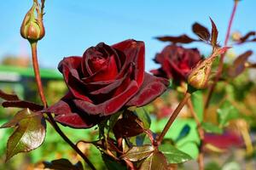
[{"label": "tilted yellowish-orange closed rose bud in front of the blurred rose", "polygon": [[212,69],[212,62],[219,54],[224,54],[227,49],[227,47],[217,48],[213,51],[210,57],[196,65],[189,74],[189,85],[195,89],[207,88],[207,82],[209,80]]}]

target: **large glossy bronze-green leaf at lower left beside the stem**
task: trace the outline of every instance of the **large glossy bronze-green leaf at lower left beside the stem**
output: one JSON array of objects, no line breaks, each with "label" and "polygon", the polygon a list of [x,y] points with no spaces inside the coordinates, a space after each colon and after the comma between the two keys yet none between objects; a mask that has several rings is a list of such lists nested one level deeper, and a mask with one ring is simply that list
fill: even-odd
[{"label": "large glossy bronze-green leaf at lower left beside the stem", "polygon": [[8,126],[14,126],[16,122],[17,128],[9,137],[6,161],[20,152],[34,150],[44,142],[46,127],[44,116],[29,109],[22,110],[18,114],[19,116],[16,117],[23,118],[11,120],[8,124]]}]

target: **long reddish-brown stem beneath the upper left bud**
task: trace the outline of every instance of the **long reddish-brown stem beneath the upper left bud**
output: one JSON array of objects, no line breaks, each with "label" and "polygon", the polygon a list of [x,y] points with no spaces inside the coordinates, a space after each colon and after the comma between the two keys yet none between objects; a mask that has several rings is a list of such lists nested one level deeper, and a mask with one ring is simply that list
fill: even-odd
[{"label": "long reddish-brown stem beneath the upper left bud", "polygon": [[[46,108],[47,101],[44,96],[44,90],[43,90],[43,85],[42,85],[39,66],[38,66],[38,52],[37,52],[38,42],[30,42],[30,44],[32,48],[32,65],[33,65],[33,70],[36,77],[36,82],[38,85],[38,91],[40,94],[40,98],[44,104],[44,107]],[[69,144],[73,148],[73,150],[75,150],[79,154],[79,156],[81,156],[84,159],[84,161],[89,165],[91,169],[96,170],[96,168],[93,166],[90,160],[84,155],[84,153],[81,150],[79,150],[79,148],[75,144],[73,144],[73,142],[70,139],[68,139],[67,136],[61,131],[61,128],[57,125],[53,116],[51,116],[50,113],[47,113],[47,116],[49,117],[50,124],[55,128],[55,131],[61,135],[61,138],[64,139],[67,142],[67,144]]]}]

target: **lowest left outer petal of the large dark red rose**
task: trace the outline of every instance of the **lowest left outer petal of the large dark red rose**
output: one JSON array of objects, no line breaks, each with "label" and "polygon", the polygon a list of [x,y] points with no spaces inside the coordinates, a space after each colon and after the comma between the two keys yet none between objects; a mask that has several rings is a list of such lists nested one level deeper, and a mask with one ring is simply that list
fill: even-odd
[{"label": "lowest left outer petal of the large dark red rose", "polygon": [[103,117],[90,116],[73,105],[71,99],[61,99],[48,108],[48,112],[55,113],[55,121],[73,128],[89,128],[100,122]]}]

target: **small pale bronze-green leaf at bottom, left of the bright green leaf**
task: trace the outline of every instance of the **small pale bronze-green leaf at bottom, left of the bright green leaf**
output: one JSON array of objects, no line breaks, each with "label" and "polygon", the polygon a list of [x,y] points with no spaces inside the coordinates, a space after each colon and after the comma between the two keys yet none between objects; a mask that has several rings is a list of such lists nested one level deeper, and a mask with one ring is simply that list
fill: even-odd
[{"label": "small pale bronze-green leaf at bottom, left of the bright green leaf", "polygon": [[128,159],[129,161],[140,161],[152,154],[153,151],[154,147],[150,144],[133,146],[123,156],[121,156],[121,158]]}]

